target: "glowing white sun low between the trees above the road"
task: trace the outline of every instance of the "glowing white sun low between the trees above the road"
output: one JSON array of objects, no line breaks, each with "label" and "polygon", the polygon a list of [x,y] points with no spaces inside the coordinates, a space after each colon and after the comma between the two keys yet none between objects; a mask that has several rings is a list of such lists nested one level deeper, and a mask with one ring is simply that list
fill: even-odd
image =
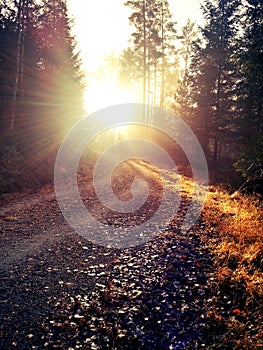
[{"label": "glowing white sun low between the trees above the road", "polygon": [[85,91],[84,104],[88,113],[116,104],[137,102],[136,95],[128,88],[118,86],[115,77],[105,77],[103,81],[91,81]]}]

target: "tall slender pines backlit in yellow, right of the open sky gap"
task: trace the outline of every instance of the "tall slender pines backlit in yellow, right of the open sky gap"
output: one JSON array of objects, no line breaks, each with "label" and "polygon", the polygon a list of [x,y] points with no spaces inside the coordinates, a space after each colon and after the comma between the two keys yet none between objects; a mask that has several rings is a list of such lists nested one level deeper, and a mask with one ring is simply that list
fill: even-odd
[{"label": "tall slender pines backlit in yellow, right of the open sky gap", "polygon": [[[135,31],[132,46],[126,52],[129,57],[124,55],[123,58],[132,57],[133,66],[142,67],[138,72],[141,74],[143,102],[159,103],[164,107],[166,78],[170,73],[167,70],[174,57],[175,40],[175,23],[168,1],[130,0],[125,5],[134,10],[129,19]],[[123,61],[123,64],[126,63]]]}]

